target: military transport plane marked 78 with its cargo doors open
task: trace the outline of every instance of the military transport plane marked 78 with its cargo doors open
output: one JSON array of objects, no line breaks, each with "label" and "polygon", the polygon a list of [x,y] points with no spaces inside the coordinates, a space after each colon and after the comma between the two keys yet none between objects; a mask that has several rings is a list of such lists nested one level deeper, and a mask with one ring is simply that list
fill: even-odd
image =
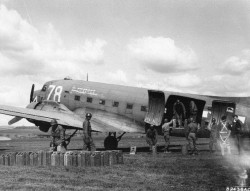
[{"label": "military transport plane marked 78 with its cargo doors open", "polygon": [[[149,124],[153,124],[161,133],[163,120],[173,118],[177,100],[182,102],[185,113],[183,124],[174,126],[172,135],[185,135],[184,118],[193,115],[192,108],[195,108],[195,118],[201,126],[198,137],[209,136],[207,127],[212,117],[220,122],[221,116],[225,115],[232,122],[234,114],[244,123],[244,133],[249,134],[250,97],[194,95],[70,78],[46,82],[37,91],[33,84],[30,104],[26,108],[0,105],[0,113],[15,116],[9,124],[26,118],[47,132],[51,119],[57,119],[66,129],[82,130],[85,114],[91,112],[93,131],[109,132],[104,147],[115,149],[126,132],[145,133]],[[116,132],[121,135],[116,137]]]}]

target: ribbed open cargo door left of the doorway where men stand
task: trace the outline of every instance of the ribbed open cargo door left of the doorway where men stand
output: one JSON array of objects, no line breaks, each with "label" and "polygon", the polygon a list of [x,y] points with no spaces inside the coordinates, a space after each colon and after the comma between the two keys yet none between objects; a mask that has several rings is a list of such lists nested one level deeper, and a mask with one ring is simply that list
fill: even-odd
[{"label": "ribbed open cargo door left of the doorway where men stand", "polygon": [[146,123],[159,126],[165,110],[165,95],[162,91],[148,90],[148,112],[144,121]]}]

